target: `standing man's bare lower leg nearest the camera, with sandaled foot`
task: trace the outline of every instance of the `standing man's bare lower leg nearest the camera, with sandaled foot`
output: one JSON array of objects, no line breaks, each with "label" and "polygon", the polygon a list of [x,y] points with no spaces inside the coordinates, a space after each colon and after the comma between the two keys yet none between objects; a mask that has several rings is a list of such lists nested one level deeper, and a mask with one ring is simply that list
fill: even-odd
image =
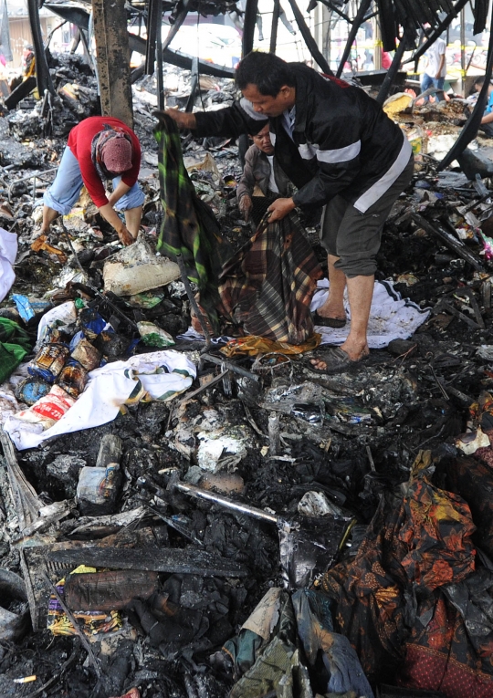
[{"label": "standing man's bare lower leg nearest the camera, with sandaled foot", "polygon": [[[374,276],[354,276],[347,279],[351,309],[351,330],[348,339],[341,344],[351,361],[358,361],[370,353],[368,347],[368,321],[372,307]],[[320,359],[311,359],[316,369],[325,370],[327,364]]]}]

